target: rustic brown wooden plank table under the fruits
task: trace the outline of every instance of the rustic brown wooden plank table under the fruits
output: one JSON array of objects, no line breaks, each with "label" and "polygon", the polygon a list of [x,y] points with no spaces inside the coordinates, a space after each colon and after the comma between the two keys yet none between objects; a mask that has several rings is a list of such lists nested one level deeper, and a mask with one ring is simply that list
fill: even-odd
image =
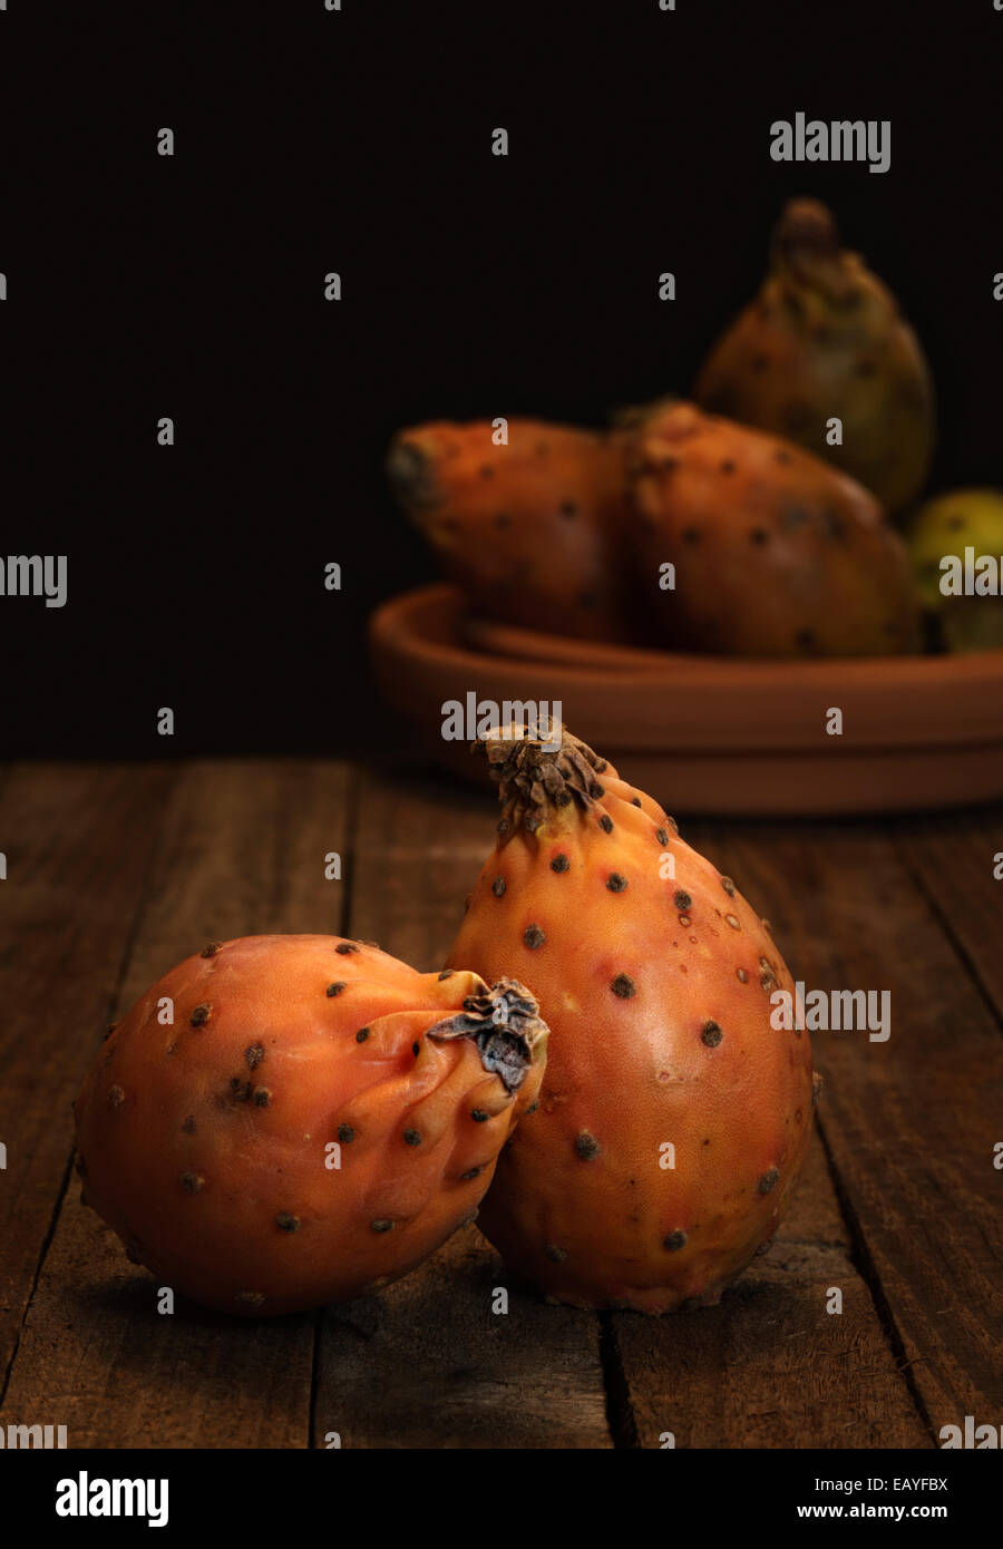
[{"label": "rustic brown wooden plank table under the fruits", "polygon": [[[490,795],[336,762],[14,765],[0,787],[0,1424],[71,1447],[919,1447],[1003,1424],[1003,812],[682,821],[795,977],[891,991],[817,1035],[819,1134],[772,1255],[716,1309],[546,1306],[474,1227],[380,1297],[160,1317],[71,1169],[70,1103],[153,979],[211,939],[332,931],[439,965]],[[324,880],[336,850],[344,880]],[[842,1314],[826,1312],[831,1287]]]}]

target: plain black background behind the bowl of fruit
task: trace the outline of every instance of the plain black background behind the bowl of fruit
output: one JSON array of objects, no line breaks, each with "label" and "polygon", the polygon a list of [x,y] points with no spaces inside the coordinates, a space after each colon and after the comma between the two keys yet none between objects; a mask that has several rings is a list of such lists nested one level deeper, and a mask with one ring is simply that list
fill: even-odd
[{"label": "plain black background behind the bowl of fruit", "polygon": [[[685,392],[791,195],[921,333],[933,486],[1003,482],[992,0],[343,5],[0,14],[0,548],[68,555],[70,584],[0,599],[8,754],[392,739],[366,618],[436,572],[391,432]],[[890,172],[772,163],[798,110],[891,119]]]}]

